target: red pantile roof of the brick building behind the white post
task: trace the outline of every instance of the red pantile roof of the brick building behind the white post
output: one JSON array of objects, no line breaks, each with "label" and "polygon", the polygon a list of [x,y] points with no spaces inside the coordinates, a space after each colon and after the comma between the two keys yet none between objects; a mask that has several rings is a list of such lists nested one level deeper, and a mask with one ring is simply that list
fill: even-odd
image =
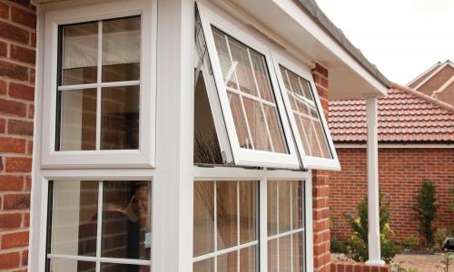
[{"label": "red pantile roof of the brick building behind the white post", "polygon": [[[378,103],[379,142],[454,142],[454,106],[398,84]],[[328,123],[333,141],[365,142],[366,101],[331,101]]]}]

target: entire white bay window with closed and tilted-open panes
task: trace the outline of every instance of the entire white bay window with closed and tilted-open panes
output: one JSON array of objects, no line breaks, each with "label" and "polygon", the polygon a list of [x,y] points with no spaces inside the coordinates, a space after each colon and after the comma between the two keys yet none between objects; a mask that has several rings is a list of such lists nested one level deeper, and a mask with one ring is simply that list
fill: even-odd
[{"label": "entire white bay window with closed and tilted-open panes", "polygon": [[[32,269],[151,271],[173,216],[157,200],[172,182],[160,177],[182,163],[157,151],[180,144],[157,124],[184,107],[160,107],[173,94],[157,88],[158,5],[51,6],[38,58]],[[182,42],[195,47],[193,161],[178,158],[192,167],[183,246],[192,271],[311,271],[310,170],[339,161],[308,64],[234,15],[197,2],[195,41]]]}]

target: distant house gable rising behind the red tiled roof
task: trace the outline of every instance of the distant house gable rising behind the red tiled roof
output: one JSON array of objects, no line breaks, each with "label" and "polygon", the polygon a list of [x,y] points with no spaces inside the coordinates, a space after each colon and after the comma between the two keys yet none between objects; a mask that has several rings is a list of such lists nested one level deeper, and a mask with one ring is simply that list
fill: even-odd
[{"label": "distant house gable rising behind the red tiled roof", "polygon": [[454,63],[449,60],[436,63],[426,72],[419,74],[407,86],[454,105]]}]

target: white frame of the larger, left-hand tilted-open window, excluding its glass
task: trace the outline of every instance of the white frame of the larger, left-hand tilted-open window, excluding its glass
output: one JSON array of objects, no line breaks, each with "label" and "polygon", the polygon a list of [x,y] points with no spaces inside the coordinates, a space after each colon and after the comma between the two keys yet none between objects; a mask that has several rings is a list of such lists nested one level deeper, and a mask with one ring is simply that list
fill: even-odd
[{"label": "white frame of the larger, left-hand tilted-open window, excluding its glass", "polygon": [[[266,45],[265,41],[244,27],[244,25],[236,24],[235,20],[228,18],[228,15],[216,10],[212,6],[208,6],[208,3],[203,4],[202,1],[197,2],[199,15],[202,22],[202,30],[205,37],[205,43],[208,47],[208,54],[211,61],[212,73],[216,84],[216,90],[208,90],[208,92],[217,92],[219,102],[221,104],[221,111],[212,111],[213,119],[215,123],[224,122],[227,136],[230,140],[230,146],[232,151],[232,157],[235,165],[241,166],[259,166],[259,167],[271,167],[271,168],[288,168],[288,169],[299,169],[300,163],[296,147],[291,137],[291,128],[287,119],[284,104],[281,100],[279,92],[279,84],[273,72],[272,59],[270,47]],[[233,122],[232,110],[227,95],[227,86],[224,83],[222,76],[222,68],[218,59],[218,53],[214,44],[212,35],[212,26],[218,28],[223,33],[228,34],[234,39],[237,39],[242,44],[246,44],[258,53],[262,53],[266,61],[266,68],[270,75],[271,92],[274,94],[276,102],[276,108],[278,110],[278,119],[281,121],[282,136],[283,140],[287,143],[289,153],[277,153],[269,151],[258,151],[249,150],[240,147],[238,136],[236,134],[235,125]],[[212,84],[211,84],[212,85]],[[207,87],[210,84],[206,84]],[[209,95],[210,96],[210,95]],[[213,95],[211,95],[213,96]],[[211,104],[212,107],[216,107],[216,104]],[[222,112],[222,116],[218,116],[219,112]],[[216,114],[218,113],[218,114]],[[280,118],[279,118],[280,117]],[[266,116],[264,116],[265,121]],[[247,120],[247,119],[246,119]],[[219,127],[219,126],[218,126]],[[224,133],[218,131],[218,137],[222,137]],[[220,142],[229,142],[224,139],[220,139]]]}]

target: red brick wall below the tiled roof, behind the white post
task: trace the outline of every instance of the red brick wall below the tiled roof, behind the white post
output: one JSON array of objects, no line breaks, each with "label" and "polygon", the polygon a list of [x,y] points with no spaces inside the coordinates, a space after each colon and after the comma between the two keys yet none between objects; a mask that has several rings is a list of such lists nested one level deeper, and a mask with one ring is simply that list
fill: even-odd
[{"label": "red brick wall below the tiled roof, behind the white post", "polygon": [[[350,227],[345,213],[354,213],[367,193],[366,149],[338,149],[342,170],[330,175],[331,231],[333,238],[346,240]],[[454,149],[380,149],[380,191],[390,198],[390,225],[396,238],[418,236],[418,222],[411,207],[422,180],[435,183],[439,211],[436,226],[449,228],[449,187],[454,186]]]}]

